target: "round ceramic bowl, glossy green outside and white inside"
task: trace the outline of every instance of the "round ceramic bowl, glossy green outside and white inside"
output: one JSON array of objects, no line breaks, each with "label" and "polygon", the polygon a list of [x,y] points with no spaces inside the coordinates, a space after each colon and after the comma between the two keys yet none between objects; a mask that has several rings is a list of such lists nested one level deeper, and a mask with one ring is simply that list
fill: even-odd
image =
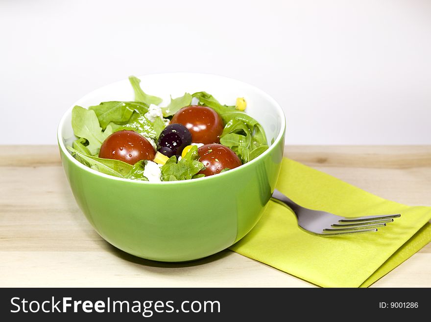
[{"label": "round ceramic bowl, glossy green outside and white inside", "polygon": [[258,222],[274,190],[283,156],[285,116],[263,91],[210,74],[139,77],[146,93],[169,101],[185,92],[206,91],[222,103],[247,101],[246,112],[265,129],[262,155],[231,171],[185,181],[146,182],[96,172],[67,151],[76,139],[72,107],[133,100],[127,79],[102,87],[74,103],[58,127],[61,160],[73,195],[97,233],[117,248],[142,258],[180,262],[212,255],[244,237]]}]

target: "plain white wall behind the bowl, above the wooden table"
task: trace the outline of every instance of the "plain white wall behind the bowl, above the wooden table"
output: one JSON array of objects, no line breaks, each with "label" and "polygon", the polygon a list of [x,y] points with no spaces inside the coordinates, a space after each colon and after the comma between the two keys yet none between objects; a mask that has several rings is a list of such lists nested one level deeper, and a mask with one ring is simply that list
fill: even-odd
[{"label": "plain white wall behind the bowl, above the wooden table", "polygon": [[0,144],[56,144],[77,99],[203,72],[283,106],[288,144],[431,144],[431,1],[0,0]]}]

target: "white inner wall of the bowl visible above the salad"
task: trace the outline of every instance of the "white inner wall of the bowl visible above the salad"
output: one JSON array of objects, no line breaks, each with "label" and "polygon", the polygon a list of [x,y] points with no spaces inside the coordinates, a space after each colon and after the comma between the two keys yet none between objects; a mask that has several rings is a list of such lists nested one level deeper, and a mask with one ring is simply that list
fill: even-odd
[{"label": "white inner wall of the bowl visible above the salad", "polygon": [[[282,137],[285,116],[280,105],[269,95],[247,83],[223,76],[193,73],[151,74],[138,76],[138,78],[141,79],[141,87],[145,93],[163,99],[160,106],[168,105],[170,96],[177,98],[186,92],[192,94],[205,91],[212,94],[220,103],[227,105],[235,105],[236,99],[243,97],[247,102],[245,111],[262,124],[268,145],[272,140],[278,141]],[[76,139],[72,130],[73,106],[88,108],[110,100],[134,100],[134,91],[128,79],[99,88],[79,99],[69,108],[58,128],[58,142],[61,149],[66,151],[65,146],[72,145]]]}]

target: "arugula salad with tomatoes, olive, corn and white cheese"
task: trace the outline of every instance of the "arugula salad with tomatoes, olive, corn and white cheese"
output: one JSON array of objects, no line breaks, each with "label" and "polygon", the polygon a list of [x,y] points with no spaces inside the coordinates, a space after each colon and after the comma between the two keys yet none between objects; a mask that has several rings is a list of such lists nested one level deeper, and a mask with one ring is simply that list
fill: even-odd
[{"label": "arugula salad with tomatoes, olive, corn and white cheese", "polygon": [[144,181],[188,180],[229,171],[268,149],[261,124],[246,101],[222,105],[206,92],[170,100],[145,94],[129,77],[134,101],[74,106],[77,140],[67,149],[98,172]]}]

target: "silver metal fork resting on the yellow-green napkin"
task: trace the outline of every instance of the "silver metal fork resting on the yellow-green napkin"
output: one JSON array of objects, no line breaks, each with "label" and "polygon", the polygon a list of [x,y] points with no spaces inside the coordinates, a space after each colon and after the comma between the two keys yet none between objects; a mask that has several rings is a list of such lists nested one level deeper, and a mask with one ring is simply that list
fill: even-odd
[{"label": "silver metal fork resting on the yellow-green napkin", "polygon": [[377,215],[363,217],[341,217],[329,212],[311,210],[300,206],[282,194],[277,189],[274,190],[272,198],[285,203],[295,213],[298,225],[303,229],[320,236],[335,236],[344,234],[355,234],[363,232],[377,231],[384,227],[386,223],[391,223],[396,215]]}]

